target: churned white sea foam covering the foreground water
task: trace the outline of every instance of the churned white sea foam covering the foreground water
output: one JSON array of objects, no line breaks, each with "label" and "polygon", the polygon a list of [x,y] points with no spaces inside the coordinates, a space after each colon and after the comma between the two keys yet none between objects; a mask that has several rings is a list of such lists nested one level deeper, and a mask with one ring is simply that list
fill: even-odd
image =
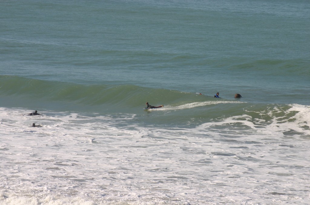
[{"label": "churned white sea foam covering the foreground water", "polygon": [[145,128],[135,115],[1,108],[0,204],[307,204],[309,130],[285,131],[308,125],[309,107],[290,111],[301,119]]}]

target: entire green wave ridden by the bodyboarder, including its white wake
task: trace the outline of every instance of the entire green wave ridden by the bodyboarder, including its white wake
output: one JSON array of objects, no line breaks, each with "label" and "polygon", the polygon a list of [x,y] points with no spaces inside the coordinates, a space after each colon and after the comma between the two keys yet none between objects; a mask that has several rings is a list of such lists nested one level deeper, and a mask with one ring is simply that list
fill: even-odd
[{"label": "entire green wave ridden by the bodyboarder, including its white wake", "polygon": [[[252,116],[256,112],[261,113],[259,120],[267,120],[268,117],[264,119],[263,115],[266,110],[269,113],[273,107],[282,107],[282,112],[285,112],[290,107],[289,104],[257,102],[253,99],[247,101],[248,98],[213,98],[199,93],[135,85],[83,85],[16,76],[1,76],[0,86],[4,107],[87,113],[143,113],[142,108],[149,102],[153,106],[164,105],[159,110],[165,112],[166,117],[171,115],[174,118],[177,113],[177,123],[189,118],[210,120],[244,113]],[[293,96],[284,97],[292,99]]]}]

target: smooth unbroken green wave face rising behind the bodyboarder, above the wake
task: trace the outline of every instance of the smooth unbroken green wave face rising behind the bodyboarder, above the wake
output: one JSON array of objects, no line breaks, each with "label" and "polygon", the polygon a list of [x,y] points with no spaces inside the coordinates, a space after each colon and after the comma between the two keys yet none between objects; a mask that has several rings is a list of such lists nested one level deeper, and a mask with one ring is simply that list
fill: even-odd
[{"label": "smooth unbroken green wave face rising behind the bodyboarder, above the wake", "polygon": [[68,104],[71,110],[79,110],[84,107],[83,110],[86,111],[95,111],[98,108],[117,111],[143,107],[147,101],[164,104],[167,102],[179,104],[179,100],[194,102],[191,98],[197,96],[192,93],[135,85],[82,85],[16,76],[1,76],[0,79],[2,103],[5,104],[7,98],[7,102],[12,103],[7,104],[9,107],[51,109],[51,104],[54,104],[55,107],[52,108],[61,109],[62,106]]}]

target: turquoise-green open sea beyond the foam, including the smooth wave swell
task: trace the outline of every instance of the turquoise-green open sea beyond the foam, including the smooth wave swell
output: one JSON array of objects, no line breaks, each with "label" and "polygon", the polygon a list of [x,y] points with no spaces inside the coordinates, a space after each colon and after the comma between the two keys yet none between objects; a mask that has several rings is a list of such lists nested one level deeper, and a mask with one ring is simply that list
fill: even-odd
[{"label": "turquoise-green open sea beyond the foam, including the smooth wave swell", "polygon": [[192,102],[187,92],[309,104],[307,1],[6,1],[3,7],[5,107],[116,111],[117,103]]}]

